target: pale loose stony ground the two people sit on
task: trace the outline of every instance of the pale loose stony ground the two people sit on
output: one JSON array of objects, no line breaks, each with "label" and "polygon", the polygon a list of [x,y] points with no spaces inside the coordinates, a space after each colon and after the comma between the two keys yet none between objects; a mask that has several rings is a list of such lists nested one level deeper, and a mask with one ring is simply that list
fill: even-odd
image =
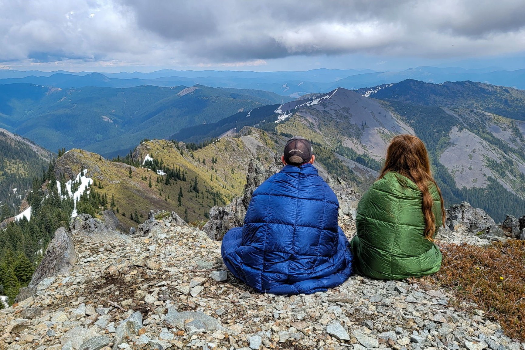
[{"label": "pale loose stony ground the two people sit on", "polygon": [[[325,293],[259,294],[226,271],[219,241],[157,217],[133,237],[77,218],[77,262],[0,310],[0,349],[525,348],[475,304],[453,307],[449,291],[417,282],[352,275]],[[460,242],[458,232],[442,238]]]}]

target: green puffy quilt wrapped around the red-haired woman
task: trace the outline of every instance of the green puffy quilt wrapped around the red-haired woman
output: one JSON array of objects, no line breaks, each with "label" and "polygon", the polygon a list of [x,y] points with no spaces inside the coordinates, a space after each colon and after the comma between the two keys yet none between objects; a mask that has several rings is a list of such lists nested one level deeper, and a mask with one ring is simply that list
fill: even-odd
[{"label": "green puffy quilt wrapped around the red-haired woman", "polygon": [[[442,225],[437,188],[436,229]],[[424,237],[423,195],[410,179],[394,172],[376,181],[359,202],[357,234],[351,241],[356,273],[375,279],[400,280],[435,273],[441,266],[439,248]]]}]

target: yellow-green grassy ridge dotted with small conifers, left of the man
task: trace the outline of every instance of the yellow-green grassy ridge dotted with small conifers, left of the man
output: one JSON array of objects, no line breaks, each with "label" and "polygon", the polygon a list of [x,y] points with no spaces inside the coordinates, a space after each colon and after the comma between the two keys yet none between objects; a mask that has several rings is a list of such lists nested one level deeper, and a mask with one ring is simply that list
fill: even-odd
[{"label": "yellow-green grassy ridge dotted with small conifers, left of the man", "polygon": [[188,221],[206,219],[214,205],[224,206],[243,193],[250,158],[274,162],[274,145],[267,133],[254,130],[201,147],[145,141],[114,161],[74,149],[58,158],[55,174],[71,179],[86,169],[92,188],[107,200],[83,210],[97,215],[104,208],[112,209],[121,229],[129,230],[142,223],[151,209],[175,210]]}]

